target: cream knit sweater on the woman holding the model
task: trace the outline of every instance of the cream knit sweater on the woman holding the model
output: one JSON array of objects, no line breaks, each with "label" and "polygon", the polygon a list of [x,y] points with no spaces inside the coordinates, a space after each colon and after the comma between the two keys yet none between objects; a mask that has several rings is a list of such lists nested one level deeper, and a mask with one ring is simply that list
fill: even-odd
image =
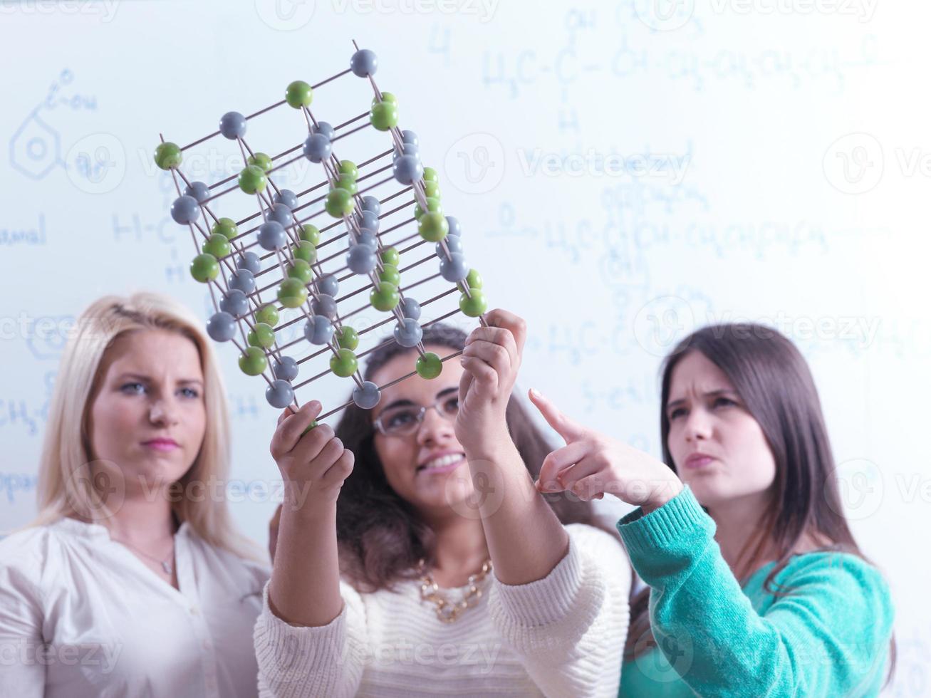
[{"label": "cream knit sweater on the woman holding the model", "polygon": [[[255,625],[262,696],[615,696],[627,635],[630,563],[602,530],[566,527],[569,552],[544,578],[501,584],[440,623],[419,583],[360,594],[341,584],[330,623],[285,623],[268,608]],[[449,596],[458,598],[456,592]]]}]

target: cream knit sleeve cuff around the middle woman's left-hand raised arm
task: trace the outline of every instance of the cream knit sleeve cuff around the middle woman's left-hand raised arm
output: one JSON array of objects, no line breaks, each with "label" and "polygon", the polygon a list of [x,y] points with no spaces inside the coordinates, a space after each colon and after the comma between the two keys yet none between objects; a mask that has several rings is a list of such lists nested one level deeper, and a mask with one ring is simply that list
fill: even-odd
[{"label": "cream knit sleeve cuff around the middle woman's left-hand raised arm", "polygon": [[255,651],[264,673],[300,677],[342,664],[347,604],[344,602],[340,614],[326,625],[290,624],[275,615],[269,606],[269,584],[266,582],[263,587],[262,613],[254,632]]}]

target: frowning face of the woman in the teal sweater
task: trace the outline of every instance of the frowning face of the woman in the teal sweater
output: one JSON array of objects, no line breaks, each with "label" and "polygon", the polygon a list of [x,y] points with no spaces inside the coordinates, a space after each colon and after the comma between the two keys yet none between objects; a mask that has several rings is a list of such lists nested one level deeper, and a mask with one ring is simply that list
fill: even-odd
[{"label": "frowning face of the woman in the teal sweater", "polygon": [[682,482],[707,506],[762,497],[776,461],[724,372],[701,352],[682,357],[669,383],[668,449]]}]

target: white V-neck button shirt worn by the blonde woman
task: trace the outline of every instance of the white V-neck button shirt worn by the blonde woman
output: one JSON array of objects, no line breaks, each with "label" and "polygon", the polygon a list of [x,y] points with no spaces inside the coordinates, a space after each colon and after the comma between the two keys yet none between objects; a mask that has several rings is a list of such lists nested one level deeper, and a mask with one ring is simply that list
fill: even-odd
[{"label": "white V-neck button shirt worn by the blonde woman", "polygon": [[99,524],[0,541],[0,696],[246,698],[269,570],[175,534],[175,589]]}]

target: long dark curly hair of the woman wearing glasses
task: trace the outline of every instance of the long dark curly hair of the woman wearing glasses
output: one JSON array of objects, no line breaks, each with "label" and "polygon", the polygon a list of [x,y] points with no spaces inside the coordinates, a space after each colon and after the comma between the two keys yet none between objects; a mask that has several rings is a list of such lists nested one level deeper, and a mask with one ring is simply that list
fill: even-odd
[{"label": "long dark curly hair of the woman wearing glasses", "polygon": [[[423,343],[459,351],[466,344],[466,333],[448,325],[430,325],[424,328]],[[385,342],[369,355],[363,378],[371,380],[395,356],[412,352],[397,342]],[[507,403],[506,423],[527,471],[535,479],[552,446],[513,395]],[[336,503],[341,571],[360,591],[391,588],[415,576],[418,560],[433,560],[436,536],[416,509],[388,485],[375,452],[371,410],[351,405],[335,431],[344,447],[356,455],[353,472],[345,479]],[[560,495],[545,497],[563,524],[585,523],[616,537],[614,528],[600,521],[591,503]]]}]

